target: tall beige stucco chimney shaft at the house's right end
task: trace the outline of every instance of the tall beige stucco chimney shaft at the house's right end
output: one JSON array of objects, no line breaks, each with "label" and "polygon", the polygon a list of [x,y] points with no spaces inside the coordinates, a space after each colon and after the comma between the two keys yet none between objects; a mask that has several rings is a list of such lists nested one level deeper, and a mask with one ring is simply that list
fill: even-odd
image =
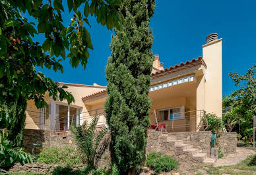
[{"label": "tall beige stucco chimney shaft at the house's right end", "polygon": [[222,118],[222,39],[203,45],[205,70],[205,111]]}]

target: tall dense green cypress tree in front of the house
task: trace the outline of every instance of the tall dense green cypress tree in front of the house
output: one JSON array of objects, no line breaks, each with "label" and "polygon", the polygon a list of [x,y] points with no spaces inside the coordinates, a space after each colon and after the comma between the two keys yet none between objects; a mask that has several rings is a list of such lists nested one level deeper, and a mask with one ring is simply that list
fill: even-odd
[{"label": "tall dense green cypress tree in front of the house", "polygon": [[152,31],[148,24],[154,0],[124,0],[119,7],[124,21],[115,29],[106,66],[105,111],[112,135],[112,162],[120,172],[134,174],[145,159],[146,130],[150,124],[148,99],[152,70]]}]

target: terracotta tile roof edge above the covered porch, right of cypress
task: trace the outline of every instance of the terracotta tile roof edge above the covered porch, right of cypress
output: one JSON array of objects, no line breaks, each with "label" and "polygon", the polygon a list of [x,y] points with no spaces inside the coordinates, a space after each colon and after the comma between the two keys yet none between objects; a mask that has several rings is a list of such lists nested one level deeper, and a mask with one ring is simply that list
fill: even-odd
[{"label": "terracotta tile roof edge above the covered porch, right of cypress", "polygon": [[186,63],[180,63],[179,65],[176,64],[174,67],[170,66],[170,68],[165,68],[164,70],[160,70],[158,72],[155,72],[155,73],[151,74],[151,78],[154,79],[154,78],[158,78],[160,76],[164,76],[166,74],[172,74],[172,73],[177,72],[179,70],[183,70],[185,68],[191,68],[191,67],[197,66],[199,64],[203,64],[205,67],[207,67],[203,58],[198,57],[197,59],[192,59],[191,61],[186,61]]}]

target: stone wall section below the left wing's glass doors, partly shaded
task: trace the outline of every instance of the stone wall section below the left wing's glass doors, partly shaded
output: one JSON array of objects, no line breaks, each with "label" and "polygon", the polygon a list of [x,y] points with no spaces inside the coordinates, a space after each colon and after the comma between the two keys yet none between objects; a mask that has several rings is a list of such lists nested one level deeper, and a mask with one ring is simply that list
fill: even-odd
[{"label": "stone wall section below the left wing's glass doors, partly shaded", "polygon": [[[32,153],[33,143],[36,143],[37,141],[40,144],[38,147],[63,147],[66,145],[75,147],[75,141],[73,137],[71,137],[70,131],[55,132],[25,129],[23,139],[25,151]],[[39,149],[36,149],[36,152],[38,152],[38,150]]]}]

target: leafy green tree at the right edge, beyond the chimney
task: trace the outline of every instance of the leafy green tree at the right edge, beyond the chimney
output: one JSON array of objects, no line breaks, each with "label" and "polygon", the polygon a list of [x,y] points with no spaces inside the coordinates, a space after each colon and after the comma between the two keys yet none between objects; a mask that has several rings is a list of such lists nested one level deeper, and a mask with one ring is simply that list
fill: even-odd
[{"label": "leafy green tree at the right edge, beyond the chimney", "polygon": [[223,99],[223,121],[228,132],[238,132],[245,143],[253,143],[253,116],[256,116],[256,64],[244,75],[230,73],[239,86]]}]

